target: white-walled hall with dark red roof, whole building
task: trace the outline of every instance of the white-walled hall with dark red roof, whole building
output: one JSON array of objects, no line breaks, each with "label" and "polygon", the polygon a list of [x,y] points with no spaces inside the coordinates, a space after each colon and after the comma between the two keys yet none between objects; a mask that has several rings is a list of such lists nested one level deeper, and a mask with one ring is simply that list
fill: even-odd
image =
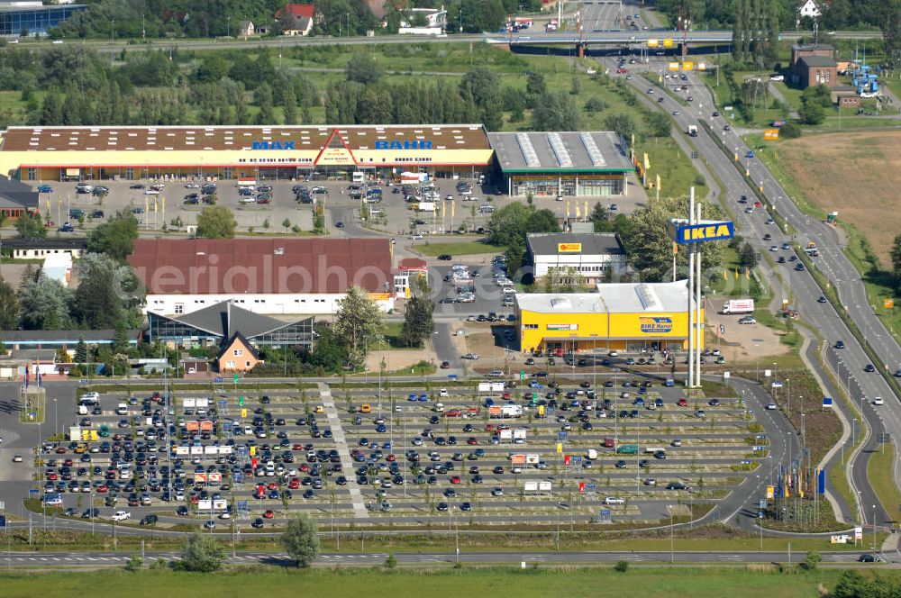
[{"label": "white-walled hall with dark red roof, whole building", "polygon": [[332,314],[351,285],[394,306],[387,239],[139,239],[128,258],[148,312],[181,315],[223,301],[264,314]]}]

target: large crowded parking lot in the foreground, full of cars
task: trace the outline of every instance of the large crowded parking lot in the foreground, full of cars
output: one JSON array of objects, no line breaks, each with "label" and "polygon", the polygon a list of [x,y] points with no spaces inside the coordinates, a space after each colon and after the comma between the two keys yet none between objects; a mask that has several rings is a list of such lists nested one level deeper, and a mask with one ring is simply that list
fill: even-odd
[{"label": "large crowded parking lot in the foreground, full of cars", "polygon": [[291,512],[341,525],[659,521],[673,503],[723,498],[764,457],[736,399],[680,402],[680,389],[625,373],[596,388],[591,376],[488,379],[493,390],[247,390],[243,406],[224,392],[180,392],[169,407],[161,392],[101,394],[74,422],[86,442],[43,445],[39,489],[75,517],[124,511],[161,528],[265,528]]}]

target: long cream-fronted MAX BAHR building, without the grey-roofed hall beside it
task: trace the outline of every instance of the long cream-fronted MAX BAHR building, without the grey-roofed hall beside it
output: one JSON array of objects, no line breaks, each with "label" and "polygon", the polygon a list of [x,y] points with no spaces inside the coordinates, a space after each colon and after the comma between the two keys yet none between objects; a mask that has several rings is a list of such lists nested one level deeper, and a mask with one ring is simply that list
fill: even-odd
[{"label": "long cream-fronted MAX BAHR building, without the grey-roofed hall beside it", "polygon": [[0,173],[23,181],[290,180],[359,171],[478,177],[491,156],[480,124],[10,127]]}]

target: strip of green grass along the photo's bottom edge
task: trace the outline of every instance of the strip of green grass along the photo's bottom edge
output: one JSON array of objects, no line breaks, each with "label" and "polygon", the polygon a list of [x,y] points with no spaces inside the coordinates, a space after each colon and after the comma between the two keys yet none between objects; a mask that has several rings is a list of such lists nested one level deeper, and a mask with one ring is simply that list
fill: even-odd
[{"label": "strip of green grass along the photo's bottom edge", "polygon": [[[725,596],[731,598],[793,598],[815,596],[818,584],[833,587],[841,569],[793,570],[786,575],[775,567],[633,569],[615,572],[610,565],[597,568],[464,567],[439,571],[344,568],[281,570],[254,566],[218,574],[152,571],[127,573],[101,571],[33,575],[0,575],[5,598],[37,595],[90,595],[157,598],[168,595],[265,595],[268,598],[297,595],[405,596],[452,595],[481,598],[514,591],[520,598],[532,596]],[[865,575],[873,575],[865,572]],[[896,571],[879,575],[896,582]]]}]

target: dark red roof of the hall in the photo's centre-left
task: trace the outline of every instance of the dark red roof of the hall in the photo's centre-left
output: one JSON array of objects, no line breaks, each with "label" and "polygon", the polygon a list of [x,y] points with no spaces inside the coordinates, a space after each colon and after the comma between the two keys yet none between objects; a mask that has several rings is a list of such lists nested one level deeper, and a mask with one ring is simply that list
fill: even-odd
[{"label": "dark red roof of the hall in the photo's centre-left", "polygon": [[128,261],[148,294],[393,289],[387,239],[139,239]]}]

